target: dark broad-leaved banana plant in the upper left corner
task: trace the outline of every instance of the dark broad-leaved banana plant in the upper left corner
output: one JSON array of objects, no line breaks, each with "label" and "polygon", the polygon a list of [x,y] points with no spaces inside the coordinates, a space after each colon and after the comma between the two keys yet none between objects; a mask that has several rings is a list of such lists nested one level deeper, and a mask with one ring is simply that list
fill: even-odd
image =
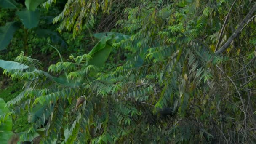
[{"label": "dark broad-leaved banana plant in the upper left corner", "polygon": [[[15,0],[1,0],[0,7],[8,9],[16,9],[16,16],[20,20],[7,22],[5,26],[0,27],[0,51],[5,49],[11,42],[13,35],[18,29],[23,29],[23,41],[25,50],[27,51],[27,41],[29,32],[35,30],[39,36],[51,37],[53,43],[60,43],[61,46],[67,47],[67,43],[54,31],[50,29],[42,29],[38,27],[40,21],[40,11],[37,9],[38,5],[43,0],[25,0],[24,8],[20,3]],[[20,22],[21,21],[21,22]]]}]

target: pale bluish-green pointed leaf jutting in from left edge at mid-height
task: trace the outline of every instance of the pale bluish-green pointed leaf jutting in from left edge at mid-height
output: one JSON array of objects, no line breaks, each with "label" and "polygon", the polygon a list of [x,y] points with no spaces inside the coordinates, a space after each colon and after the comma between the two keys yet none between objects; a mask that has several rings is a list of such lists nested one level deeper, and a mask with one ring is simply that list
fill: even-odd
[{"label": "pale bluish-green pointed leaf jutting in from left edge at mid-height", "polygon": [[29,66],[24,64],[20,64],[14,61],[4,61],[0,59],[0,67],[3,69],[11,70],[11,69],[27,69]]}]

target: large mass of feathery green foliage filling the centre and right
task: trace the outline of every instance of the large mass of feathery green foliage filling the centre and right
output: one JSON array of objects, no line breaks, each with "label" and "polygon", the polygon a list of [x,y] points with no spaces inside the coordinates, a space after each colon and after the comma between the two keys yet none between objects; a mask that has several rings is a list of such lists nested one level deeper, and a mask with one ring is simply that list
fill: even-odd
[{"label": "large mass of feathery green foliage filling the centre and right", "polygon": [[[60,32],[73,29],[68,37],[81,31],[82,21],[95,30],[96,16],[110,14],[114,5],[125,18],[115,20],[113,32],[95,34],[100,40],[88,54],[61,59],[48,72],[24,53],[15,61],[27,68],[5,69],[24,82],[23,91],[7,102],[14,107],[10,115],[29,111],[30,128],[21,137],[34,136],[48,120],[45,143],[255,142],[255,25],[248,21],[218,56],[213,52],[231,1],[128,2],[68,0],[53,20],[63,20]],[[227,22],[220,45],[252,3],[235,5],[236,21]]]}]

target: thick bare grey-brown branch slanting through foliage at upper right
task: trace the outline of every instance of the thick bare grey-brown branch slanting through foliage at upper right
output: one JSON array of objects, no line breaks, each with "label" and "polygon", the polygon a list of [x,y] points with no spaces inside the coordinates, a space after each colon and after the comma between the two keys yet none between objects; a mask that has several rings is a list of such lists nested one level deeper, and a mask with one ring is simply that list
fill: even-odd
[{"label": "thick bare grey-brown branch slanting through foliage at upper right", "polygon": [[231,35],[231,37],[229,37],[227,42],[218,51],[216,51],[215,54],[220,54],[229,47],[229,44],[237,37],[237,35],[240,33],[240,30],[243,28],[245,23],[251,18],[252,14],[255,11],[256,11],[256,3],[253,5],[253,8],[251,8],[251,11],[245,16],[243,21],[239,24],[239,26],[235,30],[235,32]]}]

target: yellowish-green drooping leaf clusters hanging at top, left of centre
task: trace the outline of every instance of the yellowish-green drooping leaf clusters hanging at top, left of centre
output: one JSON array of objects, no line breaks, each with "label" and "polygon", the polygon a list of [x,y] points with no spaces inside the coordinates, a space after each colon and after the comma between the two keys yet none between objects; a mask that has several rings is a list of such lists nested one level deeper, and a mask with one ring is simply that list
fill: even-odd
[{"label": "yellowish-green drooping leaf clusters hanging at top, left of centre", "polygon": [[[48,0],[43,4],[43,7],[48,9],[49,5],[52,3],[56,3],[56,0]],[[65,27],[67,30],[71,30],[73,28],[73,38],[75,38],[77,33],[80,33],[83,27],[85,27],[85,29],[91,29],[94,26],[96,15],[100,10],[102,10],[103,13],[109,13],[110,4],[110,0],[68,0],[64,10],[59,14],[59,16],[56,16],[53,19],[53,23],[62,20],[58,31],[62,32]],[[85,19],[85,22],[83,22],[83,19]]]}]

